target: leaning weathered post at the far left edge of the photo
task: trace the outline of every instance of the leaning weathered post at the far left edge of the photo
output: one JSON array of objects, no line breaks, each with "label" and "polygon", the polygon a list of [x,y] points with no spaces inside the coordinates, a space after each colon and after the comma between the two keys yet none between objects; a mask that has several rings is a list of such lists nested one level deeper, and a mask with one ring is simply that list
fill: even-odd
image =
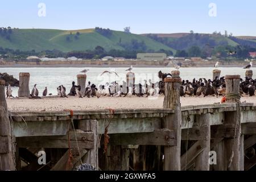
[{"label": "leaning weathered post at the far left edge of the photo", "polygon": [[15,170],[11,126],[5,99],[5,81],[0,80],[0,171]]}]

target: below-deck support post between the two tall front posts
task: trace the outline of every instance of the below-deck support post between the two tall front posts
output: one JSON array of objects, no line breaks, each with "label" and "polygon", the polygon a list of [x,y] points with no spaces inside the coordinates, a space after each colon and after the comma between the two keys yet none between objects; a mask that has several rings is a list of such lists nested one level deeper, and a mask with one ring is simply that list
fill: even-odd
[{"label": "below-deck support post between the two tall front posts", "polygon": [[195,158],[196,171],[209,171],[209,152],[210,152],[210,114],[196,115],[196,122],[200,126],[200,133],[203,134],[201,140],[204,150]]}]

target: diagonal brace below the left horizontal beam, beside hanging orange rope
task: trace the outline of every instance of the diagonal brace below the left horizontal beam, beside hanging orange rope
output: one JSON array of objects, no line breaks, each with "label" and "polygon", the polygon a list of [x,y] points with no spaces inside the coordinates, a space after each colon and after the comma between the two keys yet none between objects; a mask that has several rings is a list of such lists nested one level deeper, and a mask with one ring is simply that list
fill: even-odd
[{"label": "diagonal brace below the left horizontal beam, beside hanging orange rope", "polygon": [[79,150],[76,148],[72,148],[70,150],[72,155],[71,163],[68,163],[69,160],[69,150],[65,152],[65,154],[60,158],[60,160],[55,164],[55,166],[52,167],[51,171],[71,171],[75,166],[78,166],[80,164],[80,155],[81,158],[84,156],[87,152],[84,148],[80,148],[80,155]]}]

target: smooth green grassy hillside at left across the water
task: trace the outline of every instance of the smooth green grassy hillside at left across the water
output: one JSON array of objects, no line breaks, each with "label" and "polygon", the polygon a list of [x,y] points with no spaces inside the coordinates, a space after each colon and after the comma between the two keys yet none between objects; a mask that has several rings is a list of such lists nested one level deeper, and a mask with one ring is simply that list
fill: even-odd
[{"label": "smooth green grassy hillside at left across the water", "polygon": [[[71,34],[72,32],[72,34]],[[76,32],[80,35],[76,36]],[[67,36],[69,40],[67,40]],[[0,47],[19,49],[20,51],[44,51],[58,49],[60,51],[84,51],[92,50],[96,46],[103,47],[106,51],[110,49],[123,50],[119,46],[119,40],[122,43],[129,43],[136,39],[138,42],[144,42],[147,49],[158,51],[159,49],[175,50],[156,42],[150,38],[135,34],[126,34],[125,32],[113,31],[112,36],[107,38],[94,31],[94,29],[85,30],[46,30],[46,29],[13,29],[10,34],[10,40],[0,36]]]}]

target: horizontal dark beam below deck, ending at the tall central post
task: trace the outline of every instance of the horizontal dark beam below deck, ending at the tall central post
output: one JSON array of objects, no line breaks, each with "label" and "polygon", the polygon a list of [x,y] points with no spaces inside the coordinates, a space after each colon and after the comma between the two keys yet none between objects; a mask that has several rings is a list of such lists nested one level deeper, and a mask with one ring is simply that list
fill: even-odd
[{"label": "horizontal dark beam below deck, ending at the tall central post", "polygon": [[109,142],[114,145],[175,146],[175,134],[175,131],[168,129],[159,129],[151,133],[111,134]]}]

